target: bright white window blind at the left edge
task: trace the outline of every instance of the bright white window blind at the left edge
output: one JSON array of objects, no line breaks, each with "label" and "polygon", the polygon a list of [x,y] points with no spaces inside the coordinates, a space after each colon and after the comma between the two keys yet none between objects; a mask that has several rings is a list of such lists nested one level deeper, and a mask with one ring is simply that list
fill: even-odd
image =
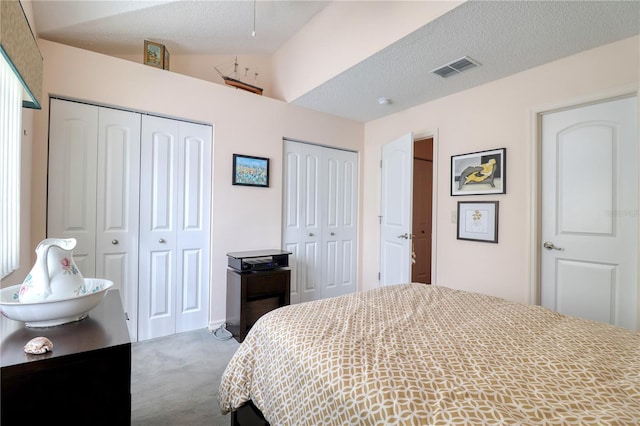
[{"label": "bright white window blind at the left edge", "polygon": [[22,85],[0,55],[0,278],[20,262]]}]

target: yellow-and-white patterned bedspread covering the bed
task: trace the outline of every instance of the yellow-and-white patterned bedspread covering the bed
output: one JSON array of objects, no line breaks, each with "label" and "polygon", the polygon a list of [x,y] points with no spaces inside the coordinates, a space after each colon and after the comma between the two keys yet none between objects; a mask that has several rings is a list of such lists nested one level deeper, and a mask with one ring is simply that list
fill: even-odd
[{"label": "yellow-and-white patterned bedspread covering the bed", "polygon": [[640,334],[539,306],[401,284],[260,318],[223,413],[272,425],[640,424]]}]

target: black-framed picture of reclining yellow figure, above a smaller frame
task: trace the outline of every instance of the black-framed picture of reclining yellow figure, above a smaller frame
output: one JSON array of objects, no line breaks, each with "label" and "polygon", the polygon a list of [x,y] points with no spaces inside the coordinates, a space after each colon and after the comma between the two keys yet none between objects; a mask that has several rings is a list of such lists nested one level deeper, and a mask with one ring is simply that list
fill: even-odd
[{"label": "black-framed picture of reclining yellow figure, above a smaller frame", "polygon": [[506,193],[506,148],[451,156],[451,195]]}]

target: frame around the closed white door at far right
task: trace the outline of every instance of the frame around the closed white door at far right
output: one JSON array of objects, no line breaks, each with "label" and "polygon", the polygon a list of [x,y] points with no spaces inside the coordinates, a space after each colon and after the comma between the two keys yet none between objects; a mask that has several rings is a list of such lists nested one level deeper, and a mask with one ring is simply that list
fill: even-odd
[{"label": "frame around the closed white door at far right", "polygon": [[[540,247],[542,244],[542,116],[551,112],[559,112],[562,110],[599,104],[630,96],[638,96],[638,102],[640,103],[640,92],[638,91],[637,86],[628,86],[597,95],[569,99],[552,104],[541,105],[531,109],[529,118],[531,128],[531,138],[529,146],[529,214],[531,217],[531,221],[529,232],[529,294],[527,303],[540,305],[541,301],[540,291],[542,287],[542,259],[540,256]],[[640,164],[640,154],[638,161]],[[638,238],[640,239],[640,233],[638,235]],[[638,269],[640,271],[640,262],[638,263]],[[638,276],[640,276],[640,274]],[[640,287],[640,280],[637,285]],[[640,292],[638,292],[638,295],[639,296],[636,304],[638,306],[638,312],[640,312]],[[636,327],[640,329],[640,315],[638,315],[638,318],[636,320]]]}]

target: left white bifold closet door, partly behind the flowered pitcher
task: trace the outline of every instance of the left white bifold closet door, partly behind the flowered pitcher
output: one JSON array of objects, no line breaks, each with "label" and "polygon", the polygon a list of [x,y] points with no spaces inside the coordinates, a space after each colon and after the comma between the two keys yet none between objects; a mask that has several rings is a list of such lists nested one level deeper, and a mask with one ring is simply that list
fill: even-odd
[{"label": "left white bifold closet door, partly behind the flowered pitcher", "polygon": [[47,236],[75,238],[85,278],[120,291],[136,339],[140,114],[51,100]]}]

